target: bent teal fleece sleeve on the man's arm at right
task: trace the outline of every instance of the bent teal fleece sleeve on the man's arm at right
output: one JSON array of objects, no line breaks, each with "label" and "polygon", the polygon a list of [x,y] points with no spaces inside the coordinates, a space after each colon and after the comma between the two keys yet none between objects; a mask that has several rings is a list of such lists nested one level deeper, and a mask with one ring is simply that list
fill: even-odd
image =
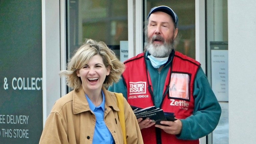
[{"label": "bent teal fleece sleeve on the man's arm at right", "polygon": [[179,139],[199,139],[210,134],[219,123],[221,107],[201,67],[195,78],[193,97],[194,112],[181,119]]}]

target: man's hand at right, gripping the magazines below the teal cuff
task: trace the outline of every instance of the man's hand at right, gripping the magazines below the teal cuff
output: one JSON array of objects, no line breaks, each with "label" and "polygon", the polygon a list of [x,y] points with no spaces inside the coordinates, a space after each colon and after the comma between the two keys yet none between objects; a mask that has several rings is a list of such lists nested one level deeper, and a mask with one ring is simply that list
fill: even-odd
[{"label": "man's hand at right, gripping the magazines below the teal cuff", "polygon": [[155,127],[158,127],[162,130],[164,130],[166,133],[169,134],[180,134],[181,129],[182,129],[182,123],[179,119],[173,121],[161,121],[161,124],[167,125],[167,126],[163,126],[163,125],[155,125]]}]

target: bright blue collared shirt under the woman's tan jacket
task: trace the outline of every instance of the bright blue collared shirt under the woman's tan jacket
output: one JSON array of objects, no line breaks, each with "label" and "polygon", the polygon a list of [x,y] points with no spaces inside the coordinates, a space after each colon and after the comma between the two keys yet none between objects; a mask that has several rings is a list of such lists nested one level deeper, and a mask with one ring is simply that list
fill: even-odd
[{"label": "bright blue collared shirt under the woman's tan jacket", "polygon": [[92,143],[93,144],[113,144],[114,143],[113,136],[111,135],[110,131],[108,130],[104,122],[105,95],[102,90],[101,90],[101,93],[102,93],[103,100],[101,104],[97,107],[92,103],[92,101],[85,94],[86,99],[89,103],[89,107],[91,111],[93,111],[96,117],[96,124],[94,128]]}]

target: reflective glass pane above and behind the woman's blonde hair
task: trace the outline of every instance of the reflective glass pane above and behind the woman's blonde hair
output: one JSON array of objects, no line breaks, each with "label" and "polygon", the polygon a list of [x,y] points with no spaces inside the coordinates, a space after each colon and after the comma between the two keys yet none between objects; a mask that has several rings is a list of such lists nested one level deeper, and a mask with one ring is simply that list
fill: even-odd
[{"label": "reflective glass pane above and behind the woman's blonde hair", "polygon": [[85,38],[104,41],[119,58],[120,41],[128,40],[127,0],[69,0],[68,58]]}]

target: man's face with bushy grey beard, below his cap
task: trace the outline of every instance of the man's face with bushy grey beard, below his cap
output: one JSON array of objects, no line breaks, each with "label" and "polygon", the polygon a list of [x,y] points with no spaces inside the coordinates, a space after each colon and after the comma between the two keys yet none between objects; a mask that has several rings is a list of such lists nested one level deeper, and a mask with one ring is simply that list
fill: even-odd
[{"label": "man's face with bushy grey beard, below his cap", "polygon": [[146,50],[154,57],[168,57],[174,48],[174,39],[178,29],[170,15],[164,12],[154,12],[149,17],[147,27],[148,42]]}]

